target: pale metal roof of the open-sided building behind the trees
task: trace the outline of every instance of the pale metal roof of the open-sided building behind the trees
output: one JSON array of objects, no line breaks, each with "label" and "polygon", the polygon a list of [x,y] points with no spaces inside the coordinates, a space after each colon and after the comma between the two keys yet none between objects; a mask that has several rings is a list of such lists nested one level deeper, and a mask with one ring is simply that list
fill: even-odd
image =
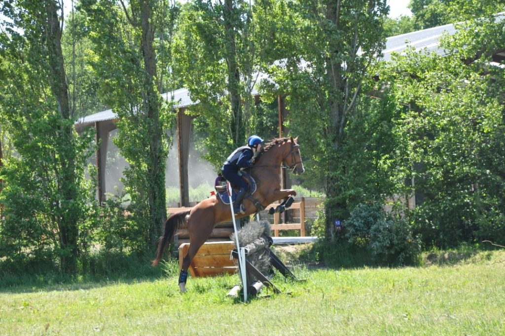
[{"label": "pale metal roof of the open-sided building behind the trees", "polygon": [[[499,15],[499,17],[502,19],[503,14]],[[409,45],[414,47],[416,50],[426,49],[428,51],[435,51],[437,54],[444,55],[445,52],[439,47],[438,43],[438,40],[440,36],[442,36],[443,32],[453,34],[456,32],[456,28],[453,24],[446,24],[439,27],[388,37],[386,39],[386,47],[383,51],[382,60],[389,61],[391,59],[391,53],[401,53],[403,50],[406,50]],[[263,77],[266,77],[266,75],[260,74],[260,78]],[[257,94],[258,92],[254,90],[252,93]],[[173,98],[176,108],[187,107],[197,103],[193,102],[191,98],[189,98],[189,92],[186,88],[178,89],[173,92],[167,92],[162,94],[162,96],[167,100],[171,100]],[[84,126],[96,121],[112,119],[117,119],[116,113],[112,110],[106,110],[80,118],[76,124]]]}]

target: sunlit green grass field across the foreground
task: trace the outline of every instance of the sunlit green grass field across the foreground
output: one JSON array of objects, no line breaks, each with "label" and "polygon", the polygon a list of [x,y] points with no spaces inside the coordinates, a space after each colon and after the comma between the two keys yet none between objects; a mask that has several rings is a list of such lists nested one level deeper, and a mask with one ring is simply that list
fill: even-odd
[{"label": "sunlit green grass field across the foreground", "polygon": [[0,335],[502,335],[505,251],[450,266],[294,267],[291,295],[226,297],[237,276],[0,288]]}]

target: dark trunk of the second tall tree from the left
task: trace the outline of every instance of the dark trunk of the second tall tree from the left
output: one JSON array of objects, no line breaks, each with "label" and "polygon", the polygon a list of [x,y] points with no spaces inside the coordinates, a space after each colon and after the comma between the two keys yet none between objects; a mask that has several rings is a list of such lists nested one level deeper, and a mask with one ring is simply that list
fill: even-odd
[{"label": "dark trunk of the second tall tree from the left", "polygon": [[149,152],[151,164],[147,167],[148,201],[149,201],[149,243],[156,246],[161,235],[161,227],[167,218],[165,194],[165,157],[163,155],[163,129],[160,121],[160,92],[156,86],[156,53],[154,49],[155,28],[151,21],[152,9],[149,0],[141,3],[140,20],[142,26],[142,54],[144,68],[144,102],[150,126]]}]

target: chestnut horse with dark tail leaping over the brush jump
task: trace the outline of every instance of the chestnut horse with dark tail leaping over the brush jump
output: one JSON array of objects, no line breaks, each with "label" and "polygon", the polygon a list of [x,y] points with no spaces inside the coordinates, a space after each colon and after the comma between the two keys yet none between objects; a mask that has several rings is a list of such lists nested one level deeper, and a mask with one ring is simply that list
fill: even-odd
[{"label": "chestnut horse with dark tail leaping over the brush jump", "polygon": [[[272,139],[265,144],[254,159],[254,165],[247,171],[257,182],[257,189],[250,197],[244,198],[242,205],[245,212],[235,214],[239,219],[265,209],[269,204],[290,196],[296,196],[294,189],[281,190],[281,164],[292,169],[295,175],[305,172],[301,160],[298,137]],[[156,259],[151,263],[158,265],[163,257],[163,251],[172,239],[175,231],[187,227],[189,231],[189,249],[182,261],[179,274],[179,288],[186,291],[187,271],[198,249],[205,243],[218,223],[229,222],[232,214],[229,204],[225,204],[217,195],[211,196],[192,208],[172,214],[165,222],[164,233],[158,240]]]}]

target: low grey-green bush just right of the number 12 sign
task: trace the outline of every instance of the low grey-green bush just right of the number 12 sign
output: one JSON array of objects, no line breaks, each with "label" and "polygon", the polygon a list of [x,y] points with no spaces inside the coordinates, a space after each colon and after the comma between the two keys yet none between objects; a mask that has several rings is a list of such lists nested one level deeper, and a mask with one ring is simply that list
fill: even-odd
[{"label": "low grey-green bush just right of the number 12 sign", "polygon": [[413,236],[407,220],[387,214],[378,203],[354,208],[344,229],[349,243],[367,248],[379,263],[413,263],[421,251],[420,239]]}]

